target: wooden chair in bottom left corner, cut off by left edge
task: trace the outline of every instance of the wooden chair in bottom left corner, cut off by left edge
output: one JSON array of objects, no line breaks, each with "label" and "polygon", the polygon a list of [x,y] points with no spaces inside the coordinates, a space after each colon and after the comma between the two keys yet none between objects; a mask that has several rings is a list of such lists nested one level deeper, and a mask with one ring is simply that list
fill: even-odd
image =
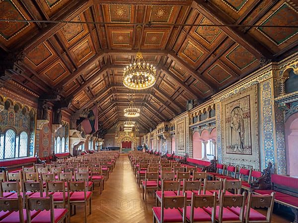
[{"label": "wooden chair in bottom left corner, cut off by left edge", "polygon": [[[6,212],[2,217],[3,223],[14,222],[24,223],[23,202],[20,195],[17,198],[0,198],[0,211]],[[30,214],[28,213],[30,216]]]}]

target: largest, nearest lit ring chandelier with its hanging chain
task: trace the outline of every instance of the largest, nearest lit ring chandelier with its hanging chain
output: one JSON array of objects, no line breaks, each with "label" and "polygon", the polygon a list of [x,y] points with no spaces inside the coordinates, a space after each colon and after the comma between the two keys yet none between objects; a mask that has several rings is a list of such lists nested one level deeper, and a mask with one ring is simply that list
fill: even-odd
[{"label": "largest, nearest lit ring chandelier with its hanging chain", "polygon": [[[141,38],[141,25],[137,26]],[[136,55],[135,61],[126,68],[123,72],[123,84],[125,87],[134,90],[144,90],[152,87],[156,82],[155,67],[146,62],[140,52],[140,38],[139,38],[139,52]]]}]

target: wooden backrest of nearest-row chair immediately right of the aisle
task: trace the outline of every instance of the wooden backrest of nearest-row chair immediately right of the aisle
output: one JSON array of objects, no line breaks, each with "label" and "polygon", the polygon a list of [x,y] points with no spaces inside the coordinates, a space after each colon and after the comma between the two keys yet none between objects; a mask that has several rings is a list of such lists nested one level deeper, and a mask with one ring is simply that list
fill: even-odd
[{"label": "wooden backrest of nearest-row chair immediately right of the aisle", "polygon": [[164,210],[167,208],[183,208],[182,219],[183,219],[183,222],[186,222],[186,205],[187,205],[186,199],[187,199],[186,194],[184,194],[183,196],[178,195],[173,197],[168,197],[168,196],[165,197],[164,193],[162,192],[160,222],[163,222]]}]

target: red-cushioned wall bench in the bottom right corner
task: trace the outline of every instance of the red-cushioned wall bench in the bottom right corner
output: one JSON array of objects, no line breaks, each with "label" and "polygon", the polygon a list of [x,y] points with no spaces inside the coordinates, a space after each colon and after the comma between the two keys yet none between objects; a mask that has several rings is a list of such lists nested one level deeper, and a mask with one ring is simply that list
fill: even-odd
[{"label": "red-cushioned wall bench in the bottom right corner", "polygon": [[286,175],[271,174],[271,190],[254,190],[256,194],[275,192],[276,203],[288,206],[295,214],[294,223],[298,223],[298,178]]}]

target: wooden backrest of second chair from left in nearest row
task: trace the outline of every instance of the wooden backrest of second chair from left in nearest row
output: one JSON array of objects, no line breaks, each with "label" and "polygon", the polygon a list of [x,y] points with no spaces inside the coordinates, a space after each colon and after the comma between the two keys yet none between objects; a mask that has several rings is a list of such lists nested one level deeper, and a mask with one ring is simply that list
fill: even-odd
[{"label": "wooden backrest of second chair from left in nearest row", "polygon": [[32,198],[26,195],[26,213],[28,217],[28,222],[31,222],[30,211],[50,211],[51,213],[51,223],[55,223],[54,218],[54,204],[53,197],[50,195],[49,197],[38,197]]}]

